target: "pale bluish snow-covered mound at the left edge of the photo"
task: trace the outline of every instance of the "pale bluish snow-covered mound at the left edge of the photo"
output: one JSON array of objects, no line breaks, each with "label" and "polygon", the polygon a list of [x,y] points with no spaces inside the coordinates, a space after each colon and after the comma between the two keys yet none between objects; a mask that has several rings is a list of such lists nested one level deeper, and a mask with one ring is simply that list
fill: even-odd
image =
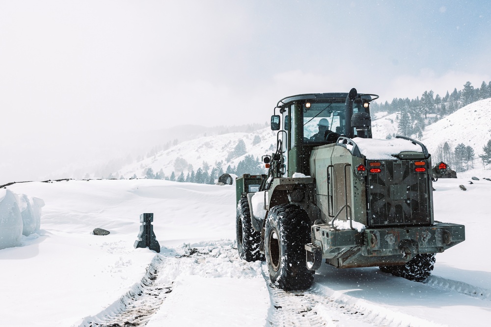
[{"label": "pale bluish snow-covered mound at the left edge of the photo", "polygon": [[28,236],[39,229],[44,201],[29,199],[25,194],[16,195],[7,189],[0,192],[1,250],[20,246],[22,235]]}]

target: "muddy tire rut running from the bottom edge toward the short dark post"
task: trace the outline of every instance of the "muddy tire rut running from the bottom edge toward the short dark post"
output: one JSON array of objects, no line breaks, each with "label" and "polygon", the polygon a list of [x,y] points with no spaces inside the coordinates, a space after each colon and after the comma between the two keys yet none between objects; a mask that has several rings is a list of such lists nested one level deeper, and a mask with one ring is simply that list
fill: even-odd
[{"label": "muddy tire rut running from the bottom edge toward the short dark post", "polygon": [[172,292],[172,283],[156,283],[165,261],[164,257],[157,254],[140,282],[107,309],[96,316],[85,318],[80,327],[144,326],[157,312],[167,294]]}]

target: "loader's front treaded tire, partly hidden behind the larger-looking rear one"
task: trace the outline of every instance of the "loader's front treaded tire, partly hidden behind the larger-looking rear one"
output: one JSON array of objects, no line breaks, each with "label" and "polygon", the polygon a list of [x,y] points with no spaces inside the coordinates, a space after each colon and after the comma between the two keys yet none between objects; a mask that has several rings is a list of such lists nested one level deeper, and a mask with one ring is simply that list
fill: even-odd
[{"label": "loader's front treaded tire, partly hidden behind the larger-looking rear one", "polygon": [[237,234],[237,250],[242,259],[246,261],[256,261],[263,259],[259,252],[261,243],[261,233],[252,228],[247,199],[241,199],[237,205],[237,217],[235,221],[235,230]]}]

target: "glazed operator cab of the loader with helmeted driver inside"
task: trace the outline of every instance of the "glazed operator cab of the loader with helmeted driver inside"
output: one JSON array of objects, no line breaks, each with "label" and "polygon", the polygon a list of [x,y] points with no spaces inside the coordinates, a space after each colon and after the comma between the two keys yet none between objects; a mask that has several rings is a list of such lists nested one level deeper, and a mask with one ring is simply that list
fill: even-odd
[{"label": "glazed operator cab of the loader with helmeted driver inside", "polygon": [[300,94],[278,101],[271,128],[278,130],[284,158],[281,176],[308,175],[312,149],[333,144],[339,136],[371,138],[369,103],[377,98],[353,89],[350,93]]}]

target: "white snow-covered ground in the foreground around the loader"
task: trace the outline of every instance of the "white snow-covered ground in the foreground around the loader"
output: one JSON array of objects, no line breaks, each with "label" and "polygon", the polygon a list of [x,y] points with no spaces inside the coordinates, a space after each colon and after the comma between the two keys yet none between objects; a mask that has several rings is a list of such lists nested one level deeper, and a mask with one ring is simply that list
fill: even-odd
[{"label": "white snow-covered ground in the foreground around the loader", "polygon": [[[464,224],[466,240],[436,255],[424,283],[323,264],[304,292],[278,290],[264,263],[239,258],[233,185],[13,184],[46,205],[39,230],[0,250],[1,326],[489,326],[490,175],[434,184],[436,220]],[[134,248],[145,212],[160,253]]]}]

